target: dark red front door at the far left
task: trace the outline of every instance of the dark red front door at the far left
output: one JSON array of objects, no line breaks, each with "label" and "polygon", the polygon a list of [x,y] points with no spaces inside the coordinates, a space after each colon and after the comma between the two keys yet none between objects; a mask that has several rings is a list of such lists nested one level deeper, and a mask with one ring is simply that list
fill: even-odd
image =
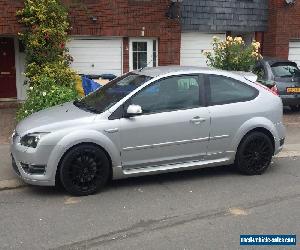
[{"label": "dark red front door at the far left", "polygon": [[16,96],[14,39],[0,37],[0,98]]}]

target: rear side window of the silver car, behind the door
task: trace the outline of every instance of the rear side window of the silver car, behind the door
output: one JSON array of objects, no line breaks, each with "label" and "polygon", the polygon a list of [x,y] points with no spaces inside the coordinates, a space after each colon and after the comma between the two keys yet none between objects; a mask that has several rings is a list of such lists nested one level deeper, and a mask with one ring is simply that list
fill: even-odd
[{"label": "rear side window of the silver car, behind the door", "polygon": [[249,101],[258,94],[247,84],[225,76],[210,75],[209,84],[211,105]]}]

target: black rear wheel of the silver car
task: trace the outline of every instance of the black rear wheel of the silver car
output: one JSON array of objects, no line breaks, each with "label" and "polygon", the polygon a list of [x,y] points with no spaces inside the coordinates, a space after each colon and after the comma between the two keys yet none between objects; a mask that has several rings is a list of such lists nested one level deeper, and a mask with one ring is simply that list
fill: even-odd
[{"label": "black rear wheel of the silver car", "polygon": [[252,132],[241,141],[235,166],[243,174],[260,175],[269,167],[273,153],[271,139],[262,132]]}]

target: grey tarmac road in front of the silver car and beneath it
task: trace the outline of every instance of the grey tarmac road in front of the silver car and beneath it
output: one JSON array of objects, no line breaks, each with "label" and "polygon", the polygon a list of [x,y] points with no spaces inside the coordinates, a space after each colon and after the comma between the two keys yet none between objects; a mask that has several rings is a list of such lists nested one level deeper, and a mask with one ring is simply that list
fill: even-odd
[{"label": "grey tarmac road in front of the silver car and beneath it", "polygon": [[297,157],[260,176],[201,169],[115,181],[88,197],[23,187],[0,192],[0,248],[252,249],[240,234],[296,234],[300,249],[299,208]]}]

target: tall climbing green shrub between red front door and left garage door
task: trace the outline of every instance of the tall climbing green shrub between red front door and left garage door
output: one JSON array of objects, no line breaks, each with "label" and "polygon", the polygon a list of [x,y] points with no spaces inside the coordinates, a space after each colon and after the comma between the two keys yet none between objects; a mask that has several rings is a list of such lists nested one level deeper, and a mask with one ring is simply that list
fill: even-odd
[{"label": "tall climbing green shrub between red front door and left garage door", "polygon": [[69,65],[68,12],[60,0],[24,0],[17,12],[24,32],[28,79],[27,99],[17,112],[17,121],[28,115],[77,97],[76,72]]}]

